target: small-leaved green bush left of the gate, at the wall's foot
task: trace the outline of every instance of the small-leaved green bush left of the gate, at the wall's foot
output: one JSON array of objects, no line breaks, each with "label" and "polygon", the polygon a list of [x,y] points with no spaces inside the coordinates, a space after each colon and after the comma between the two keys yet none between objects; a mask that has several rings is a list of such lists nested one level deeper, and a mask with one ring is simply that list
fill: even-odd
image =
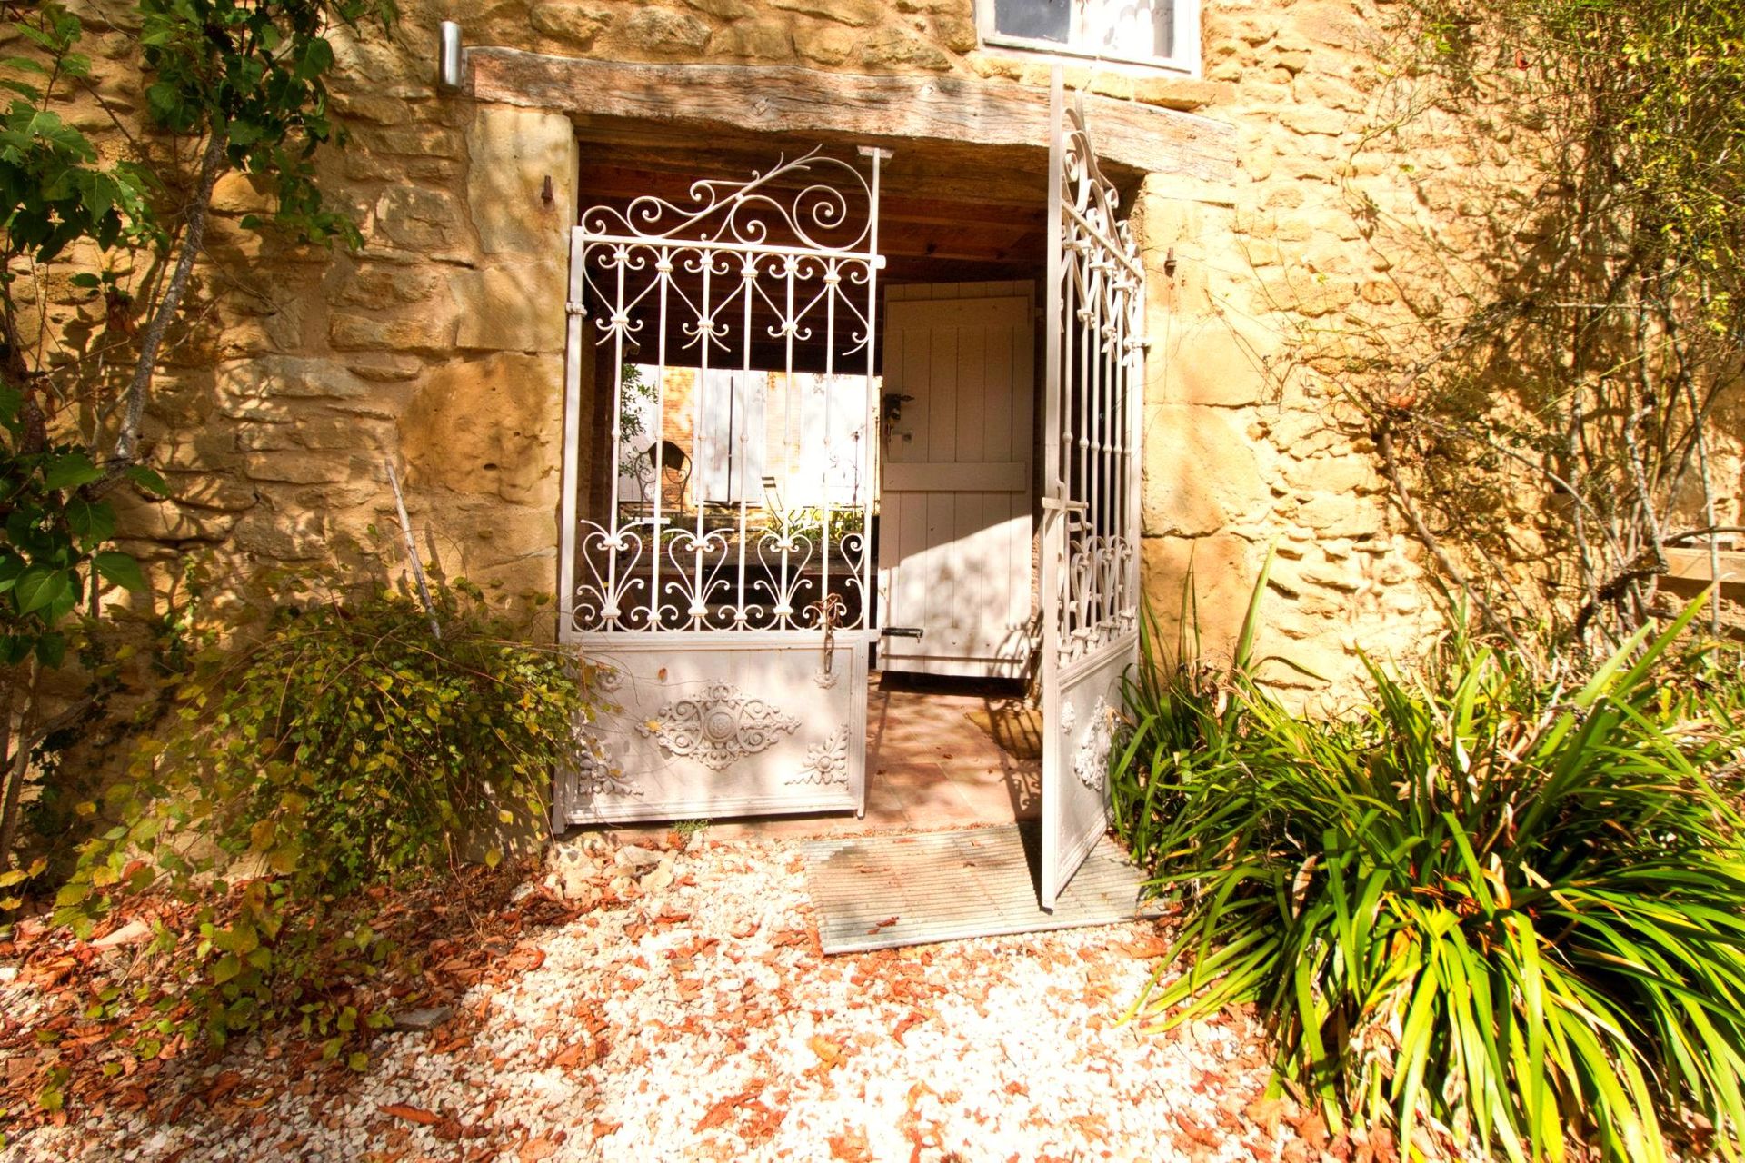
[{"label": "small-leaved green bush left of the gate, at the wall's foot", "polygon": [[513,640],[464,582],[435,602],[440,638],[421,605],[375,591],[281,605],[258,638],[206,650],[174,725],[105,797],[119,823],[56,919],[89,931],[148,889],[199,903],[199,942],[159,933],[188,959],[190,1025],[222,1043],[300,1018],[337,1051],[359,1017],[325,996],[393,952],[359,908],[368,889],[543,821],[588,715],[574,659]]}]

